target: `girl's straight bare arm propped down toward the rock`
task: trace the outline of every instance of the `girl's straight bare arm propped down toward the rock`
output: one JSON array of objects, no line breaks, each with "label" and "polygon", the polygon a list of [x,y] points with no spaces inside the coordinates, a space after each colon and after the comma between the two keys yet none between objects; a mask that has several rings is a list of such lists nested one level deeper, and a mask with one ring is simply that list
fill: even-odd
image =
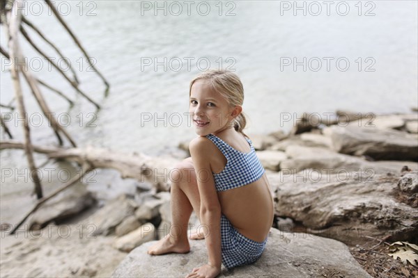
[{"label": "girl's straight bare arm propped down toward the rock", "polygon": [[206,247],[208,248],[209,265],[221,269],[221,205],[215,188],[215,180],[208,157],[210,152],[210,140],[198,137],[189,144],[190,154],[196,171],[197,186],[201,199],[200,220],[203,225]]}]

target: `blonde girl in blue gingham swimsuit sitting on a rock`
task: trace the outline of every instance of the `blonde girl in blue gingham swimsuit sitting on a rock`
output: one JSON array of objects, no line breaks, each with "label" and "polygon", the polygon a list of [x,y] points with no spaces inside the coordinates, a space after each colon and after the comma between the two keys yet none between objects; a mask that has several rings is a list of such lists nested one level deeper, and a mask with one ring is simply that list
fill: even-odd
[{"label": "blonde girl in blue gingham swimsuit sitting on a rock", "polygon": [[[186,253],[192,210],[205,227],[208,263],[188,278],[216,277],[226,268],[254,263],[263,252],[273,222],[273,200],[265,171],[245,128],[244,89],[233,72],[210,70],[192,80],[189,113],[199,137],[191,157],[177,165],[171,186],[170,235],[148,254]],[[183,229],[182,229],[183,227]]]}]

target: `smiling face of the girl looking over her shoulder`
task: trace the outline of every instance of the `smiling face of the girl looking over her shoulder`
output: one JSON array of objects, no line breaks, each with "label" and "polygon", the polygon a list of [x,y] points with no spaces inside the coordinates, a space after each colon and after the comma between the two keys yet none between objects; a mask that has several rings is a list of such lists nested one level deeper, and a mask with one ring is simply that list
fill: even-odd
[{"label": "smiling face of the girl looking over her shoulder", "polygon": [[216,92],[206,80],[192,85],[189,113],[196,134],[206,136],[232,127],[229,122],[240,113],[241,106],[231,107],[228,101]]}]

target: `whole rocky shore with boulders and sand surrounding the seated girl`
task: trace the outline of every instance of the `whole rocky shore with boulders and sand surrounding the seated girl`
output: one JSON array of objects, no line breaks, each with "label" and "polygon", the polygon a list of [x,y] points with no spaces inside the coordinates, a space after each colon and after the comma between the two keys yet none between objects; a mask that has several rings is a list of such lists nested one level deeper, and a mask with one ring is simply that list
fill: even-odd
[{"label": "whole rocky shore with boulders and sand surrounding the seated girl", "polygon": [[[418,243],[418,113],[336,114],[344,120],[306,114],[289,133],[249,134],[268,172],[274,226],[257,263],[220,277],[418,275],[387,251],[359,251]],[[189,156],[187,142],[179,147]],[[193,240],[189,254],[146,254],[169,232],[169,204],[169,192],[147,183],[105,204],[83,186],[70,188],[31,215],[29,236],[9,236],[1,223],[1,277],[184,277],[203,263],[204,240]],[[189,224],[199,226],[195,215]],[[372,256],[384,262],[368,264]]]}]

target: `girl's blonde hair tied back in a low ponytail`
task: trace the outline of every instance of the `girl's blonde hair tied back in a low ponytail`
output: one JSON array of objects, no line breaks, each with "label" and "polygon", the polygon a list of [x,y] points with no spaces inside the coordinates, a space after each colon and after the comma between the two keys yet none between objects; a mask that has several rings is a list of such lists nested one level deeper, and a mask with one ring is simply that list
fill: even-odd
[{"label": "girl's blonde hair tied back in a low ponytail", "polygon": [[[212,88],[228,101],[229,106],[242,106],[244,103],[244,86],[242,86],[238,75],[233,72],[226,70],[208,70],[199,74],[190,82],[189,96],[192,94],[192,85],[198,80],[209,81]],[[249,138],[247,134],[242,131],[245,129],[246,124],[246,117],[244,112],[241,111],[241,113],[234,118],[233,127],[235,131],[238,131]]]}]

